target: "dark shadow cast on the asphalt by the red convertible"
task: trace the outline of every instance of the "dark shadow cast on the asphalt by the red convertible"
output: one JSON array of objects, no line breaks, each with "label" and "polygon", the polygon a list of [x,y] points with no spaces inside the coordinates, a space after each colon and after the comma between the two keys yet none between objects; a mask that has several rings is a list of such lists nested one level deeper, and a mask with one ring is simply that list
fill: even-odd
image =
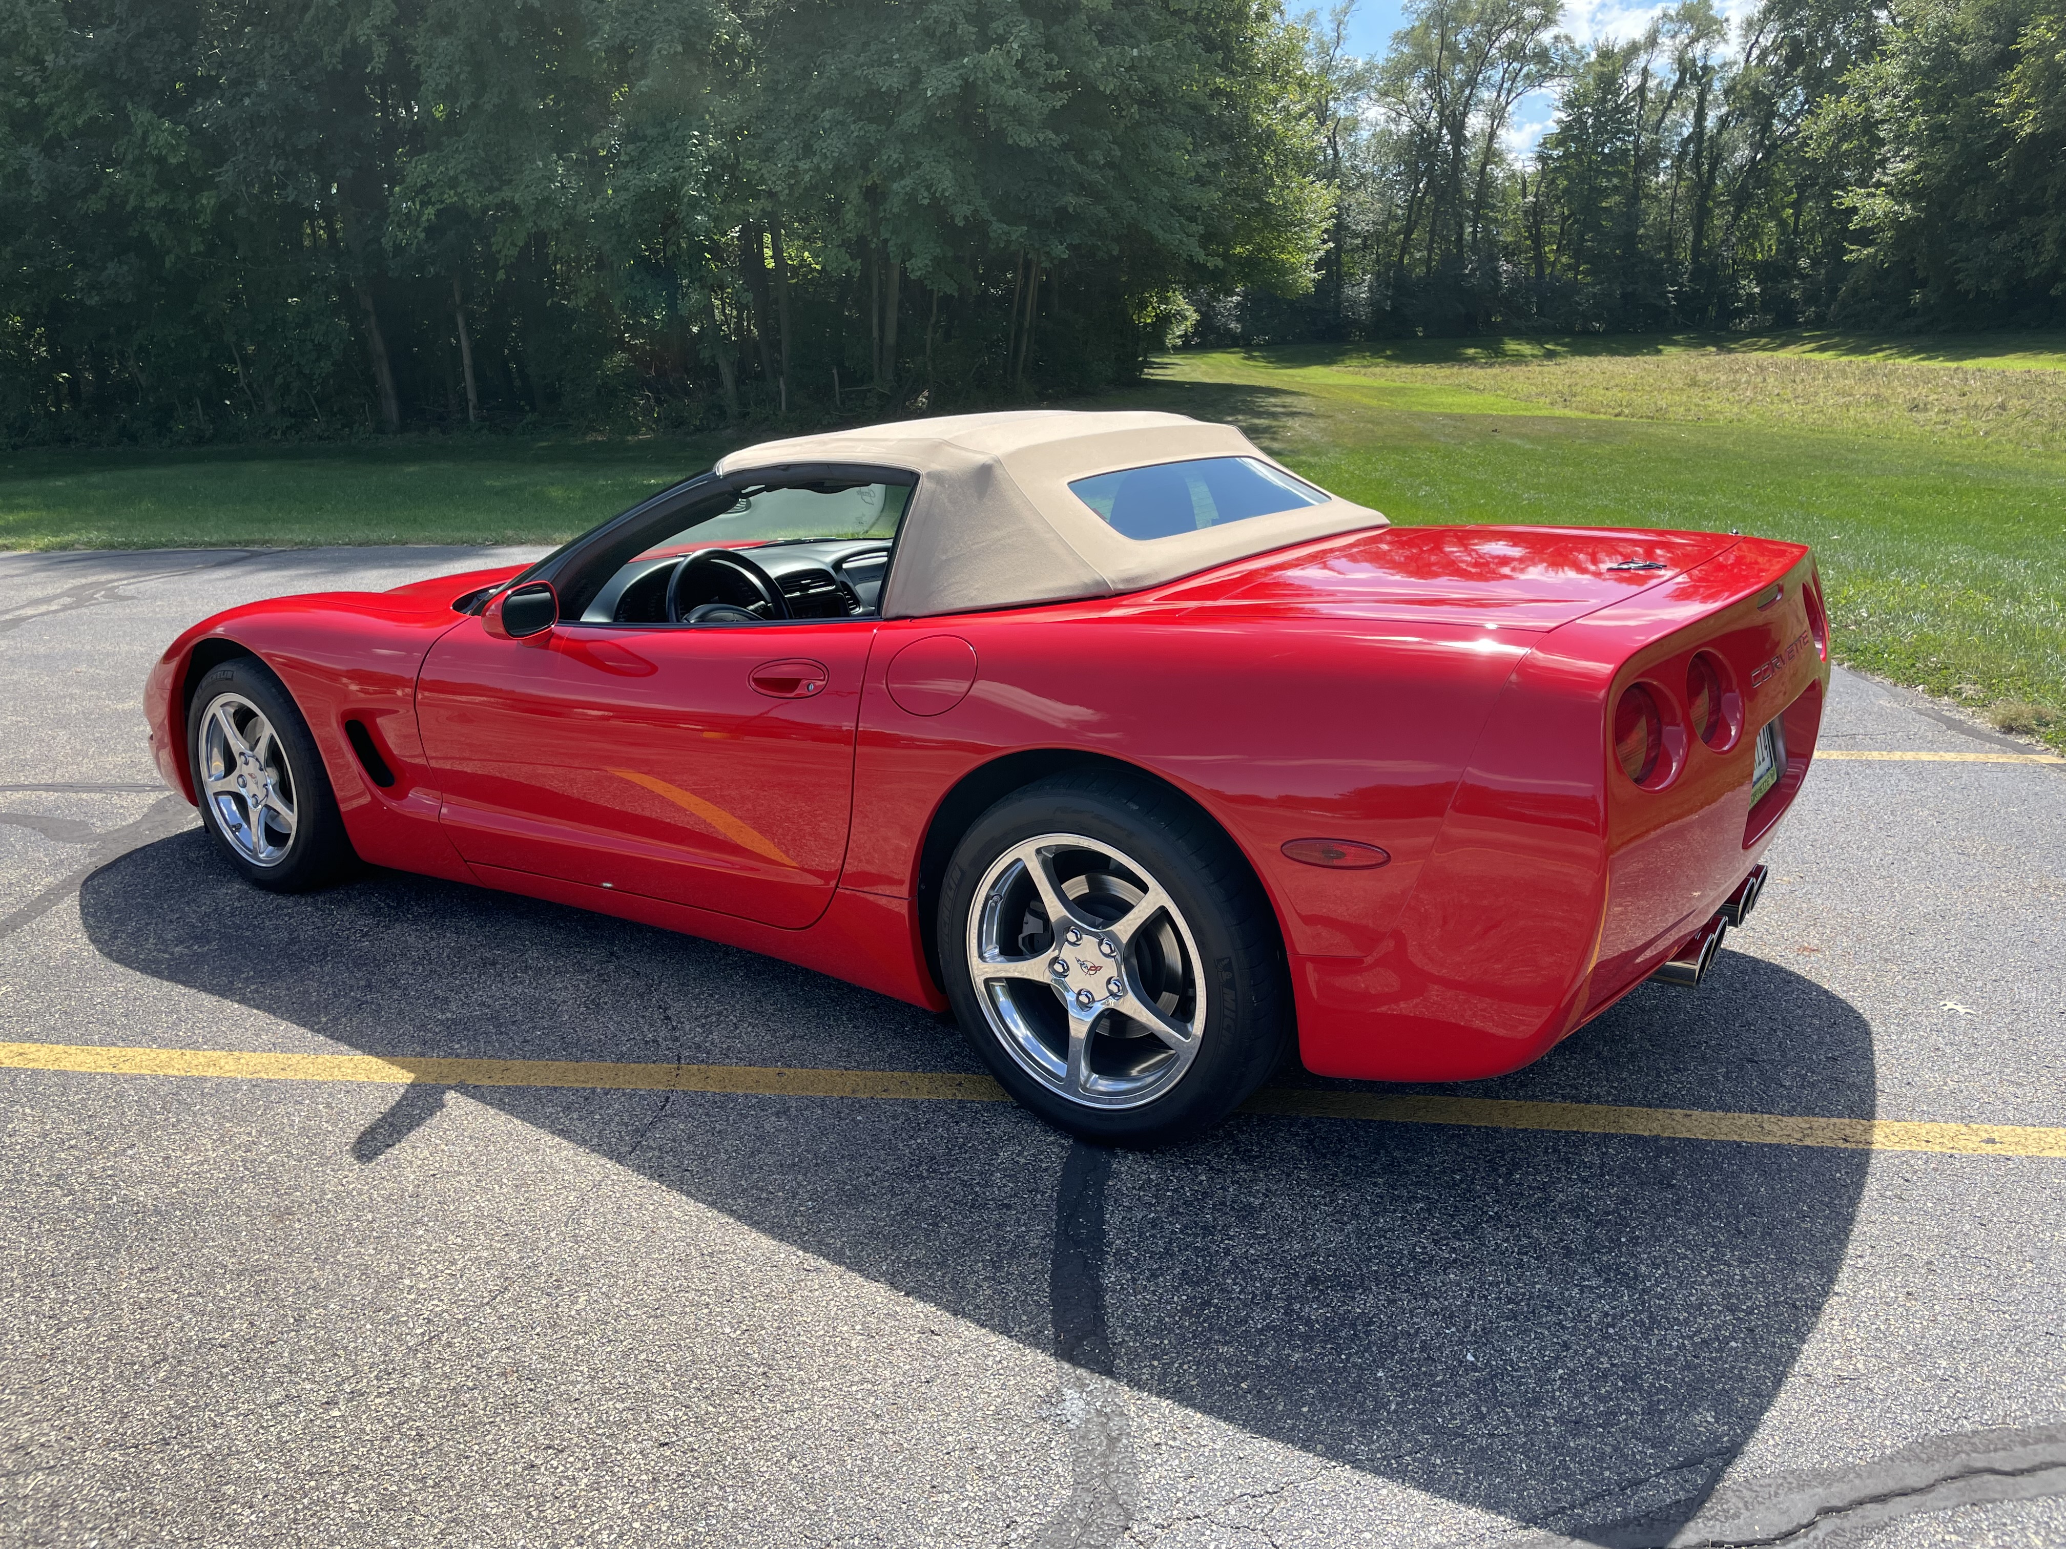
[{"label": "dark shadow cast on the asphalt by the red convertible", "polygon": [[[122,967],[368,1053],[975,1068],[921,1010],[601,915],[390,872],[256,896],[198,830],[95,872],[81,915]],[[1630,1541],[1636,1510],[1638,1539],[1663,1543],[1756,1429],[1828,1297],[1868,1165],[1248,1115],[1163,1152],[1087,1155],[1000,1103],[463,1090],[1109,1376],[1120,1404],[1171,1400],[1601,1543]],[[1696,995],[1642,989],[1533,1070],[1452,1090],[1868,1117],[1872,1031],[1731,954]],[[339,1152],[378,1165],[442,1103],[403,1088]],[[1081,1468],[1124,1475],[1140,1446]],[[1093,1485],[1112,1510],[1132,1499],[1126,1479]]]}]

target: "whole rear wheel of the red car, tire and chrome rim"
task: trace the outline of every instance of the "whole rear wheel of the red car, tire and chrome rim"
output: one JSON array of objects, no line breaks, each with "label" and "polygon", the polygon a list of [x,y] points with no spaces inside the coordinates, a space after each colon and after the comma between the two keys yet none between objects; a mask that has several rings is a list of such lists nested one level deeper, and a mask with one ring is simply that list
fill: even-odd
[{"label": "whole rear wheel of the red car, tire and chrome rim", "polygon": [[1200,812],[1124,774],[1062,774],[985,812],[942,884],[940,965],[996,1078],[1095,1144],[1217,1124],[1283,1057],[1277,925]]}]

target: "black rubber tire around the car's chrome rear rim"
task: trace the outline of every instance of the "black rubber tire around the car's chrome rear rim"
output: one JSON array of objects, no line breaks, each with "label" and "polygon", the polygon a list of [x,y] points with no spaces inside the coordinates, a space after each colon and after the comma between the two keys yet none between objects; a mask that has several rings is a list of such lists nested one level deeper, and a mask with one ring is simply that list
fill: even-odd
[{"label": "black rubber tire around the car's chrome rear rim", "polygon": [[[1083,836],[1093,841],[1097,849],[1054,847],[1047,851],[1033,845],[1033,841],[1058,834]],[[1116,882],[1097,874],[1101,861],[1095,857],[1101,847],[1109,847],[1118,857],[1112,861]],[[1068,993],[1091,995],[1083,1004],[1097,1006],[1095,977],[1085,981],[1091,985],[1089,989],[1074,991],[1068,991],[1062,981],[1023,983],[1023,979],[1010,983],[985,979],[992,987],[988,991],[977,987],[971,952],[979,952],[985,940],[1004,940],[996,931],[1021,931],[1010,938],[1016,946],[1002,956],[1012,958],[1023,971],[1033,956],[1050,952],[1054,954],[1050,967],[1064,967],[1076,950],[1064,948],[1052,931],[1039,934],[1039,921],[1050,919],[1052,911],[1027,907],[1021,913],[1021,900],[1031,896],[1027,890],[1035,884],[1025,872],[1031,861],[1014,861],[1014,849],[1021,855],[1052,853],[1056,874],[1072,865],[1093,872],[1087,878],[1072,878],[1070,886],[1128,888],[1130,884],[1147,884],[1147,888],[1161,888],[1169,900],[1171,909],[1155,925],[1161,940],[1169,944],[1165,950],[1155,950],[1155,983],[1163,987],[1202,985],[1202,1010],[1196,1000],[1186,1000],[1182,989],[1163,995],[1163,1000],[1173,1002],[1171,1022],[1182,1022],[1184,1010],[1190,1008],[1196,1045],[1188,1053],[1188,1064],[1182,1064],[1182,1055],[1171,1055],[1161,1074],[1167,1084],[1155,1086],[1153,1066],[1163,1057],[1157,1043],[1136,1045],[1097,1033],[1085,1043],[1085,1049],[1091,1051],[1118,1049],[1122,1074],[1114,1084],[1134,1080],[1151,1093],[1147,1099],[1118,1107],[1091,1107],[1089,1097],[1072,1090],[1074,1064],[1068,1064],[1068,1076],[1058,1076],[1052,1068],[1045,1076],[1037,1074],[1041,1057],[1066,1060],[1054,1051],[1056,1045],[1050,1037],[1054,1016],[1062,1018],[1066,1033],[1066,1026],[1072,1026]],[[1012,865],[1021,867],[1016,886],[1023,892],[1019,894],[1010,892],[1014,886],[1010,882]],[[1132,892],[1149,898],[1140,886],[1132,886]],[[1099,900],[1085,894],[1072,903],[1091,907]],[[1132,907],[1136,905],[1126,903],[1124,894],[1109,905],[1122,913]],[[1124,983],[1136,993],[1151,993],[1147,987],[1149,965],[1140,958],[1142,952],[1151,950],[1145,946],[1147,940],[1149,929],[1142,927],[1140,942],[1120,948]],[[1211,818],[1140,777],[1118,770],[1056,774],[1014,791],[977,818],[957,845],[940,884],[938,946],[954,1018],[990,1072],[1047,1124],[1093,1144],[1159,1146],[1186,1140],[1240,1107],[1256,1086],[1277,1072],[1291,1047],[1293,1018],[1283,942],[1269,898],[1248,861]],[[1093,973],[1099,962],[1097,952],[1107,946],[1109,942],[1093,927],[1089,942],[1081,948],[1091,956],[1076,958],[1085,975]],[[1182,969],[1169,967],[1180,960],[1190,960],[1190,977]],[[1095,971],[1103,973],[1105,969]],[[1107,983],[1114,995],[1109,1004],[1128,1004],[1118,1000],[1122,979],[1114,977]],[[1008,1014],[998,1010],[1000,995],[1010,1002]],[[1054,1002],[1058,1010],[1043,1010],[1047,1002]],[[1138,1029],[1145,1026],[1136,1018],[1109,1018],[1099,1010],[1087,1010],[1083,1016],[1091,1018],[1087,1026],[1120,1029],[1128,1039],[1138,1039]],[[1047,1055],[1031,1047],[1027,1031],[1041,1035]],[[1128,1053],[1136,1047],[1149,1053],[1145,1057]],[[1087,1053],[1083,1066],[1091,1064],[1093,1053]],[[1132,1074],[1136,1068],[1145,1068],[1149,1074]],[[1122,1097],[1124,1093],[1107,1101],[1116,1103]]]}]

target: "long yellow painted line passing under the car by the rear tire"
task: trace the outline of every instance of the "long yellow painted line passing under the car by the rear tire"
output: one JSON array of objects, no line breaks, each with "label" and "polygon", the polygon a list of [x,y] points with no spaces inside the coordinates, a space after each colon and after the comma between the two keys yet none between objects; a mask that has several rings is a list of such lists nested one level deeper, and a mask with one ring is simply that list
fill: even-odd
[{"label": "long yellow painted line passing under the car by the rear tire", "polygon": [[[874,1097],[1002,1103],[990,1076],[946,1070],[789,1070],[779,1066],[638,1066],[591,1060],[438,1060],[372,1053],[238,1053],[132,1049],[95,1043],[0,1043],[0,1068],[105,1076],[217,1076],[229,1080],[359,1080],[434,1086],[589,1086],[640,1093],[742,1093],[754,1097]],[[1822,1119],[1785,1113],[1711,1113],[1682,1107],[1521,1103],[1498,1097],[1384,1097],[1273,1086],[1244,1107],[1316,1119],[1463,1124],[1492,1130],[1564,1130],[1665,1140],[1738,1140],[1839,1150],[1938,1150],[1963,1157],[2066,1157],[2066,1130],[2023,1124]]]}]

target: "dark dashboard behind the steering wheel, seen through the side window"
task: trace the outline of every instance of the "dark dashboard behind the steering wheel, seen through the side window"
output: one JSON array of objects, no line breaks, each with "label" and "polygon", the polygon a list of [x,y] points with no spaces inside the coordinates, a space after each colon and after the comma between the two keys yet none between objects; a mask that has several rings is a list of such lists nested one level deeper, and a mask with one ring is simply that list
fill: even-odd
[{"label": "dark dashboard behind the steering wheel, seen through the side window", "polygon": [[[667,578],[682,556],[692,551],[632,560],[595,595],[581,622],[665,624]],[[882,578],[890,568],[888,543],[878,537],[754,543],[742,554],[752,556],[769,572],[795,622],[872,618],[880,607]],[[760,601],[752,582],[725,566],[696,566],[690,574],[694,587],[692,595],[684,593],[680,599],[682,613],[702,603],[752,607]]]}]

